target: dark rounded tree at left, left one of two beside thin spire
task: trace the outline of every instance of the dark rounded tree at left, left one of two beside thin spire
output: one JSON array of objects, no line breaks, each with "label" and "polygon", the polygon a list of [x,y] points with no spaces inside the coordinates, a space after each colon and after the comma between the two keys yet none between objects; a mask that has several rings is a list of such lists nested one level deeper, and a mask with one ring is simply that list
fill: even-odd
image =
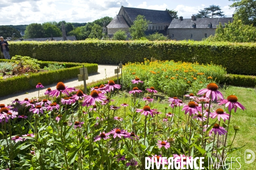
[{"label": "dark rounded tree at left, left one of two beside thin spire", "polygon": [[24,38],[43,38],[44,27],[38,23],[29,24],[26,27]]}]

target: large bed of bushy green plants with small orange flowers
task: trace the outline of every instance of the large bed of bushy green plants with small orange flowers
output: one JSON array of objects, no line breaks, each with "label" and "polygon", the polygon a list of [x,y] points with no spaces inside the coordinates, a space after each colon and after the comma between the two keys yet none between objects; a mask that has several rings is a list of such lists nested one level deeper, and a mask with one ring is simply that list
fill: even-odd
[{"label": "large bed of bushy green plants with small orange flowers", "polygon": [[143,88],[153,86],[168,96],[183,96],[186,91],[196,93],[209,82],[222,82],[226,71],[218,65],[156,61],[128,63],[123,69],[124,87],[132,89],[131,79],[140,78]]}]

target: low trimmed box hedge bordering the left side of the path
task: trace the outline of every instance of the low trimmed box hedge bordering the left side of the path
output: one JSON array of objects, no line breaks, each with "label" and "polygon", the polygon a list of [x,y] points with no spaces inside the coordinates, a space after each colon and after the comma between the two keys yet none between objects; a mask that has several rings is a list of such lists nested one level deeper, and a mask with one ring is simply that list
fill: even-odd
[{"label": "low trimmed box hedge bordering the left side of the path", "polygon": [[[10,60],[9,60],[10,61]],[[45,65],[48,63],[63,64],[63,62],[43,62]],[[0,96],[6,96],[9,94],[15,94],[21,91],[26,91],[35,88],[38,82],[43,85],[50,85],[56,82],[61,82],[67,79],[72,79],[77,77],[79,73],[79,68],[87,67],[88,74],[96,73],[98,71],[97,64],[88,63],[65,63],[67,68],[59,69],[55,71],[45,71],[32,73],[28,76],[17,76],[8,79],[0,80],[0,87],[4,90],[0,91]],[[41,67],[43,64],[41,65]]]}]

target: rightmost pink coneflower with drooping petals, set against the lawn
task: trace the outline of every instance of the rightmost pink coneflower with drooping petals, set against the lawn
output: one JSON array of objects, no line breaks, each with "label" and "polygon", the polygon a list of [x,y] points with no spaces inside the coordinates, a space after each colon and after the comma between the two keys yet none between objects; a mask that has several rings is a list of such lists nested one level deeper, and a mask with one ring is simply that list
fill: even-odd
[{"label": "rightmost pink coneflower with drooping petals, set against the lawn", "polygon": [[227,96],[227,99],[223,99],[223,100],[219,103],[219,105],[225,104],[225,107],[228,107],[228,111],[229,111],[229,112],[231,112],[231,110],[232,110],[233,108],[235,108],[235,109],[234,109],[234,112],[235,112],[235,113],[236,113],[236,109],[237,109],[237,108],[240,108],[240,109],[242,109],[242,110],[244,111],[245,107],[244,107],[241,103],[239,103],[239,102],[237,102],[237,101],[238,101],[237,96],[235,96],[235,95],[230,95],[230,96]]}]

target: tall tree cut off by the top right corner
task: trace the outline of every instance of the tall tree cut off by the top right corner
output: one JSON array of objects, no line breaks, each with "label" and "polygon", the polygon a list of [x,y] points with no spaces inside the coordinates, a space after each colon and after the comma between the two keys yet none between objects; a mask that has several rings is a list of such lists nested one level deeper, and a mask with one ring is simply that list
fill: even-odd
[{"label": "tall tree cut off by the top right corner", "polygon": [[236,8],[235,19],[241,20],[244,24],[256,26],[256,0],[229,1],[234,1],[230,7]]}]

